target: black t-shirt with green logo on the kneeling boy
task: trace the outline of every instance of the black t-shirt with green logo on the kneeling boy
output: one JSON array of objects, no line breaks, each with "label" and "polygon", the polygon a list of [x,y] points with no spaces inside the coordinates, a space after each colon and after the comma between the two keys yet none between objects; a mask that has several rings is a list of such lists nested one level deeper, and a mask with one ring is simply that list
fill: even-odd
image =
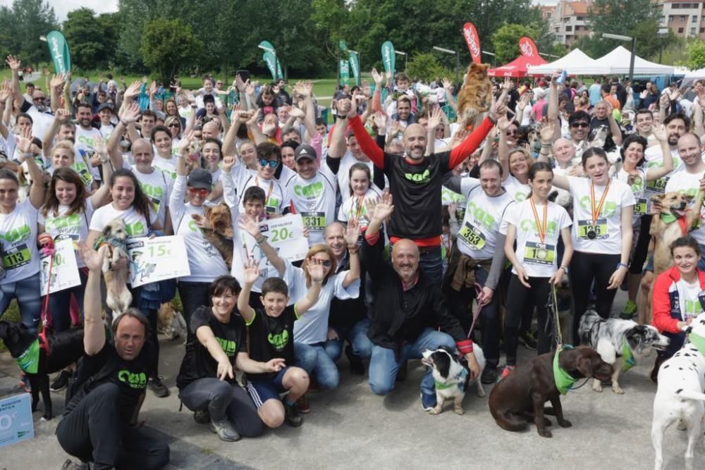
[{"label": "black t-shirt with green logo on the kneeling boy", "polygon": [[[268,362],[281,357],[287,366],[293,366],[296,319],[293,305],[286,307],[280,316],[269,316],[264,309],[255,309],[255,319],[250,323],[250,358]],[[253,381],[264,381],[274,376],[276,372],[247,373],[247,378]]]}]

